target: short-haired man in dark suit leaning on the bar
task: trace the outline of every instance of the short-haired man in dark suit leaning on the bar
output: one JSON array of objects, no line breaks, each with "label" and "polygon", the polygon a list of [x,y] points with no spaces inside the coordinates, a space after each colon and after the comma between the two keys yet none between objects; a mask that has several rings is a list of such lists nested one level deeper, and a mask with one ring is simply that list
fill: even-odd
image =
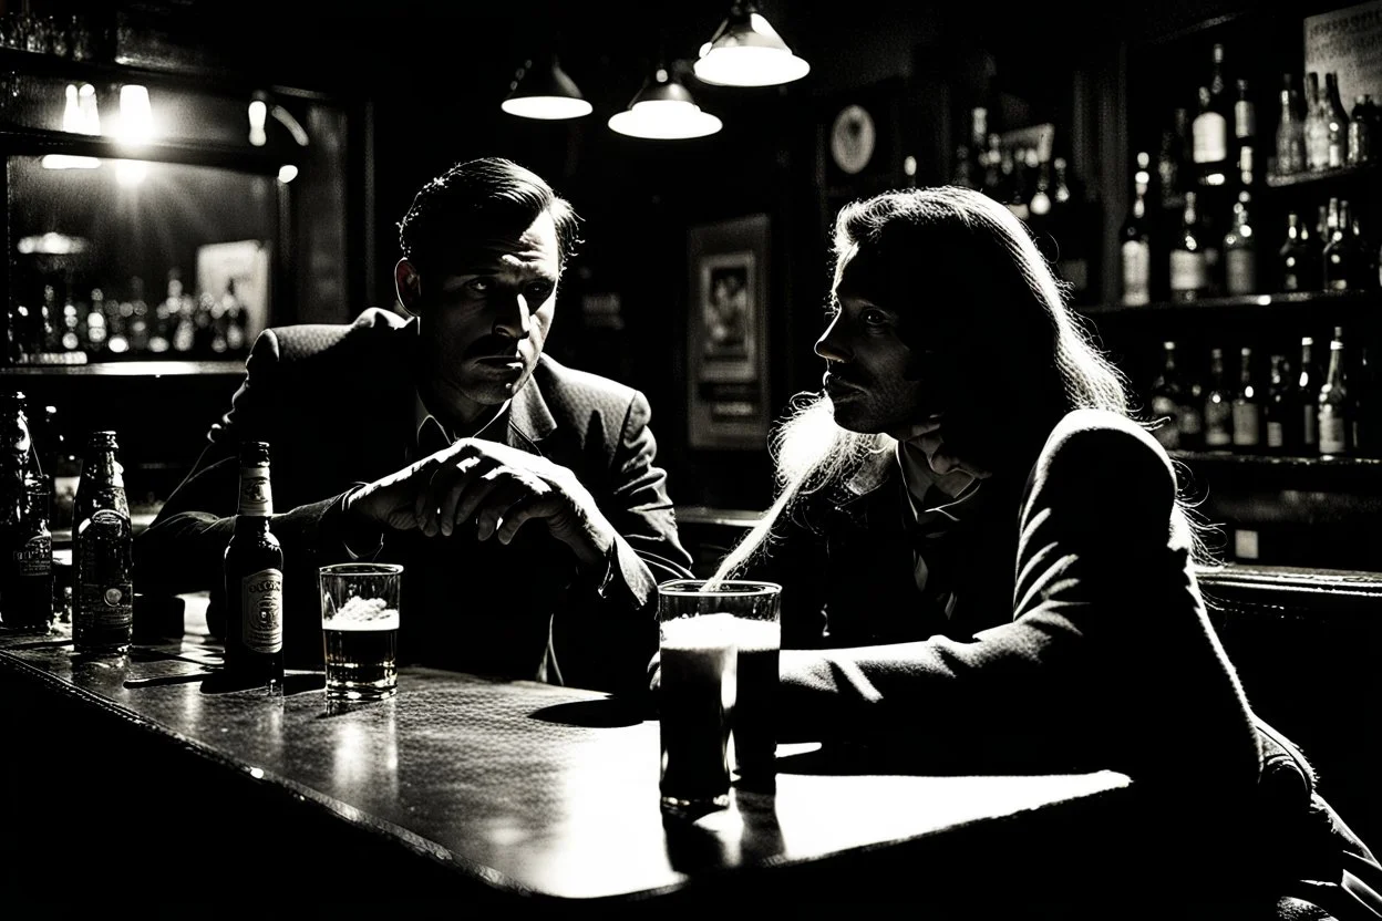
[{"label": "short-haired man in dark suit leaning on the bar", "polygon": [[141,591],[210,588],[240,440],[271,446],[285,659],[321,661],[316,568],[405,566],[399,656],[641,688],[656,583],[688,576],[638,391],[542,353],[578,217],[536,174],[459,163],[399,222],[398,298],[265,330],[210,445],[135,544]]}]

